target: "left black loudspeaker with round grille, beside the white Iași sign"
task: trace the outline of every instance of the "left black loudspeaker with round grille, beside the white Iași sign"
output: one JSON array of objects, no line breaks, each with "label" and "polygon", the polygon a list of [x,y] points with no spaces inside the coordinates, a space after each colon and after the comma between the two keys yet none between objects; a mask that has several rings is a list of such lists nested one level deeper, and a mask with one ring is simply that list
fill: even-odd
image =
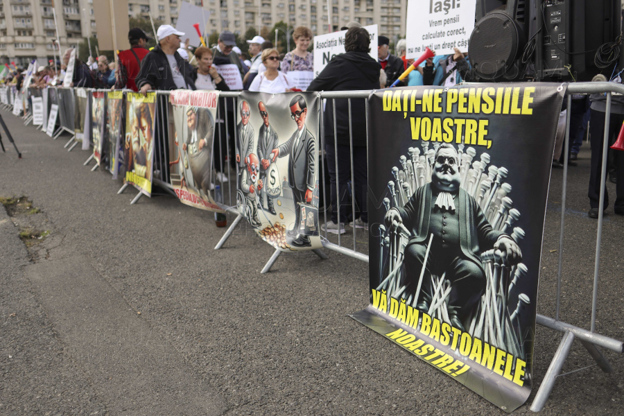
[{"label": "left black loudspeaker with round grille, beside the white Ia\u0219i sign", "polygon": [[518,61],[530,28],[528,3],[528,0],[477,0],[468,55],[478,78],[519,78]]}]

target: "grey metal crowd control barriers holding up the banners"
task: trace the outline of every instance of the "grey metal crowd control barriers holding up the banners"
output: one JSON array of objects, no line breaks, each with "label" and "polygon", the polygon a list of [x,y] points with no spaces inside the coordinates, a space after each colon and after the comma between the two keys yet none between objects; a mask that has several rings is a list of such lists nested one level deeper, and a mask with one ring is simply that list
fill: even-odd
[{"label": "grey metal crowd control barriers holding up the banners", "polygon": [[[9,88],[9,91],[11,89]],[[561,202],[561,223],[560,223],[560,247],[559,247],[559,263],[558,263],[558,270],[557,270],[557,291],[556,291],[556,309],[555,309],[555,318],[549,318],[545,315],[540,315],[537,314],[537,324],[543,326],[543,327],[547,327],[549,329],[553,329],[555,331],[559,331],[561,333],[563,333],[563,337],[562,340],[560,342],[559,347],[557,348],[557,352],[555,352],[555,356],[553,357],[553,360],[551,361],[550,366],[548,367],[548,371],[546,372],[546,375],[544,376],[544,380],[542,381],[539,390],[537,391],[537,395],[535,396],[535,399],[533,400],[530,409],[532,411],[538,412],[539,410],[544,408],[544,405],[546,404],[546,401],[548,400],[548,396],[550,395],[551,391],[553,390],[554,384],[555,384],[555,380],[557,379],[558,376],[564,376],[566,374],[571,374],[571,373],[566,373],[566,374],[560,374],[562,367],[564,365],[564,362],[566,361],[567,356],[569,355],[571,346],[574,342],[575,339],[578,339],[580,341],[580,343],[583,345],[583,347],[585,347],[585,349],[587,349],[587,352],[589,353],[589,355],[591,356],[591,358],[593,358],[594,361],[596,361],[596,364],[594,365],[598,365],[598,367],[600,367],[601,370],[603,370],[604,372],[613,372],[612,366],[609,364],[609,362],[607,361],[607,359],[605,358],[605,356],[603,356],[602,352],[600,352],[599,347],[605,348],[605,349],[610,349],[613,352],[617,352],[618,354],[622,354],[622,352],[624,351],[624,344],[622,341],[620,340],[615,340],[613,338],[609,338],[607,336],[603,336],[600,335],[598,333],[596,333],[596,307],[598,304],[598,281],[599,281],[599,275],[600,275],[600,244],[602,241],[602,232],[603,232],[603,211],[604,211],[604,196],[605,196],[605,182],[606,182],[606,164],[607,164],[607,150],[608,150],[608,144],[609,144],[609,121],[610,121],[610,112],[611,112],[611,105],[612,105],[612,93],[616,93],[616,94],[624,94],[624,85],[621,84],[615,84],[615,83],[572,83],[569,84],[567,87],[567,100],[568,100],[568,105],[571,106],[571,95],[572,94],[597,94],[597,93],[606,93],[607,94],[607,101],[606,101],[606,111],[605,111],[605,132],[604,132],[604,137],[603,137],[603,157],[602,157],[602,172],[600,174],[600,202],[599,202],[599,208],[598,208],[598,229],[597,229],[597,235],[596,235],[596,256],[595,256],[595,263],[594,263],[594,273],[593,273],[593,293],[592,293],[592,304],[591,304],[591,327],[589,329],[589,331],[587,329],[582,329],[580,327],[576,327],[575,325],[572,324],[568,324],[566,322],[563,322],[562,320],[560,320],[560,300],[561,300],[561,283],[562,283],[562,264],[563,264],[563,249],[564,249],[564,244],[563,244],[563,237],[564,237],[564,222],[565,222],[565,211],[566,211],[566,184],[567,184],[567,174],[568,174],[568,150],[569,150],[569,146],[570,146],[570,117],[567,118],[566,120],[566,135],[565,135],[565,140],[564,140],[564,170],[563,170],[563,185],[562,185],[562,202]],[[169,121],[169,107],[168,107],[168,96],[169,96],[169,92],[157,92],[157,96],[158,96],[158,100],[157,100],[157,112],[159,112],[159,114],[162,114],[162,116],[160,116],[158,118],[159,123],[157,123],[156,126],[156,141],[159,142],[159,149],[157,150],[157,152],[155,153],[155,164],[157,164],[157,166],[159,166],[159,170],[155,171],[154,177],[153,177],[153,183],[158,185],[159,187],[162,187],[162,189],[165,189],[168,192],[173,193],[173,187],[171,187],[171,185],[169,184],[169,180],[170,180],[170,172],[169,172],[169,164],[168,164],[168,132],[169,130],[169,125],[170,125],[170,121]],[[230,99],[232,100],[232,110],[233,110],[233,114],[237,114],[237,102],[236,99],[239,96],[239,92],[221,92],[220,93],[220,99],[223,99],[223,105],[222,103],[220,103],[219,105],[219,110],[218,110],[218,116],[217,116],[217,121],[220,121],[218,123],[218,127],[216,129],[216,134],[218,134],[218,140],[219,140],[219,145],[220,145],[220,156],[223,156],[223,150],[224,150],[224,143],[223,141],[225,140],[225,150],[227,151],[227,155],[230,155],[229,152],[229,143],[227,141],[227,137],[229,135],[229,124],[227,123],[227,116],[228,113],[227,112],[227,100]],[[347,103],[348,103],[348,107],[349,107],[349,137],[351,139],[351,146],[350,146],[350,157],[351,157],[351,180],[352,183],[354,180],[354,164],[353,164],[353,132],[352,132],[352,121],[353,121],[353,117],[352,117],[352,100],[356,100],[356,99],[363,99],[365,100],[365,123],[366,123],[366,135],[368,136],[368,104],[367,104],[367,98],[370,96],[370,94],[372,94],[372,92],[370,91],[356,91],[356,92],[321,92],[319,93],[319,97],[320,98],[324,98],[327,100],[332,100],[333,105],[333,130],[334,130],[334,137],[336,137],[336,132],[337,132],[337,127],[336,127],[336,100],[338,99],[347,99]],[[12,95],[12,94],[11,94]],[[59,107],[61,108],[62,106],[59,105]],[[223,110],[222,110],[223,109]],[[222,118],[221,114],[225,112],[225,118]],[[73,119],[72,119],[73,120]],[[320,128],[321,128],[321,132],[320,132],[320,144],[321,144],[321,164],[320,166],[322,167],[322,185],[323,185],[323,200],[324,200],[324,216],[325,216],[325,222],[327,223],[327,206],[329,205],[329,200],[327,200],[327,189],[324,186],[324,184],[326,184],[327,182],[325,181],[325,174],[324,174],[324,123],[323,123],[323,119],[322,117],[320,118]],[[62,124],[62,123],[61,123]],[[236,116],[234,116],[234,123],[232,123],[232,125],[234,125],[234,139],[236,140]],[[222,128],[225,128],[225,135],[222,135]],[[64,127],[65,130],[70,131],[69,129],[67,129],[67,127]],[[73,131],[70,131],[71,133],[73,133]],[[337,153],[338,150],[338,144],[336,139],[334,139],[334,150]],[[234,230],[234,228],[236,228],[240,221],[243,219],[243,216],[241,216],[241,214],[239,214],[239,211],[236,209],[236,200],[234,199],[234,201],[232,201],[232,175],[231,175],[231,171],[232,169],[227,165],[227,163],[225,162],[225,157],[220,158],[220,163],[222,166],[222,170],[223,168],[225,168],[225,166],[227,166],[227,177],[228,177],[228,181],[225,182],[227,183],[227,189],[228,189],[228,195],[227,195],[227,203],[225,202],[220,202],[219,205],[221,207],[223,207],[227,212],[229,212],[230,214],[235,214],[236,215],[236,219],[234,220],[234,223],[232,223],[232,225],[230,225],[229,229],[227,229],[227,231],[225,232],[225,234],[223,235],[222,239],[219,241],[218,245],[216,246],[215,250],[218,250],[220,248],[223,247],[223,244],[225,243],[225,241],[227,241],[227,239],[229,238],[229,236],[232,235],[232,232]],[[223,164],[225,164],[225,166],[223,166]],[[338,173],[338,163],[336,162],[336,171]],[[336,191],[338,194],[338,205],[340,204],[340,184],[338,183],[338,174],[336,175],[337,179],[336,179],[336,183],[335,184],[331,184],[331,186],[335,186],[336,187]],[[223,176],[219,178],[220,184],[223,187],[224,181],[223,181]],[[127,187],[127,184],[124,184],[124,186],[122,187],[122,189],[120,189],[120,191],[118,193],[121,193],[123,191],[123,189],[125,189],[125,187]],[[236,187],[236,183],[234,183],[234,187]],[[225,191],[225,189],[224,189]],[[132,203],[135,203],[136,200],[138,200],[138,198],[142,195],[142,193],[139,193],[139,195],[137,196],[137,198],[135,198],[135,200],[132,201]],[[355,217],[355,213],[356,213],[356,207],[355,207],[355,203],[356,203],[356,198],[352,198],[352,215]],[[340,207],[337,207],[337,211],[338,214],[340,213]],[[338,221],[340,221],[340,216],[338,216]],[[355,230],[355,229],[354,229]],[[345,254],[349,257],[354,257],[355,259],[360,259],[362,261],[366,261],[368,262],[368,256],[367,254],[364,254],[363,252],[358,252],[356,250],[356,236],[355,236],[355,232],[354,232],[354,241],[353,241],[353,248],[346,248],[343,246],[342,244],[342,239],[340,238],[340,233],[338,234],[338,243],[332,243],[331,241],[329,241],[328,236],[327,236],[327,229],[325,231],[324,234],[324,238],[322,239],[322,244],[324,248],[327,248],[328,250],[332,250],[332,251],[336,251],[340,254]],[[320,257],[326,257],[324,253],[322,252],[317,252],[316,254],[318,254]],[[271,266],[273,263],[275,263],[275,260],[277,259],[277,257],[279,256],[279,251],[276,250],[276,252],[272,255],[271,259],[268,261],[268,263],[266,263],[266,266],[263,268],[262,272],[268,272],[268,270],[270,270]],[[593,367],[593,365],[590,365],[589,367]],[[578,370],[573,370],[572,372],[577,372],[580,370],[585,370],[586,368],[589,367],[584,367],[584,368],[580,368]]]}]

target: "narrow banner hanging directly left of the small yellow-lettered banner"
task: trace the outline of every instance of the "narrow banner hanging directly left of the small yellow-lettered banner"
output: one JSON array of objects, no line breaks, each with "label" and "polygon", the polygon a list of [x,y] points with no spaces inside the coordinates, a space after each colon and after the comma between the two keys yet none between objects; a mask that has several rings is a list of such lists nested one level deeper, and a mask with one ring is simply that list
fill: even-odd
[{"label": "narrow banner hanging directly left of the small yellow-lettered banner", "polygon": [[[107,92],[106,137],[108,139],[108,171],[117,179],[119,168],[123,166],[123,92]],[[125,171],[122,172],[125,176]]]}]

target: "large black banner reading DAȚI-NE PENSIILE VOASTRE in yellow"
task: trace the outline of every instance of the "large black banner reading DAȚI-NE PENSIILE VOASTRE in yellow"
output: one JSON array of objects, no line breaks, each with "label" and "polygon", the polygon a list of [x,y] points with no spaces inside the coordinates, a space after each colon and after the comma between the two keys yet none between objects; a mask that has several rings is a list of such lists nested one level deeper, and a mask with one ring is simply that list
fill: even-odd
[{"label": "large black banner reading DA\u021aI-NE PENSIILE VOASTRE in yellow", "polygon": [[369,99],[370,305],[352,316],[506,412],[531,391],[563,96],[523,83]]}]

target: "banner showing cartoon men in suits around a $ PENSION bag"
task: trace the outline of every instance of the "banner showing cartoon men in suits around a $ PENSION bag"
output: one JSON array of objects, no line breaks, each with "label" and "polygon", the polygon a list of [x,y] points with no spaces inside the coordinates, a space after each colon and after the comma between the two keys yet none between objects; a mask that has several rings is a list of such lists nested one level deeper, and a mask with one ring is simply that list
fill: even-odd
[{"label": "banner showing cartoon men in suits around a $ PENSION bag", "polygon": [[282,251],[321,248],[315,92],[239,96],[236,205]]}]

